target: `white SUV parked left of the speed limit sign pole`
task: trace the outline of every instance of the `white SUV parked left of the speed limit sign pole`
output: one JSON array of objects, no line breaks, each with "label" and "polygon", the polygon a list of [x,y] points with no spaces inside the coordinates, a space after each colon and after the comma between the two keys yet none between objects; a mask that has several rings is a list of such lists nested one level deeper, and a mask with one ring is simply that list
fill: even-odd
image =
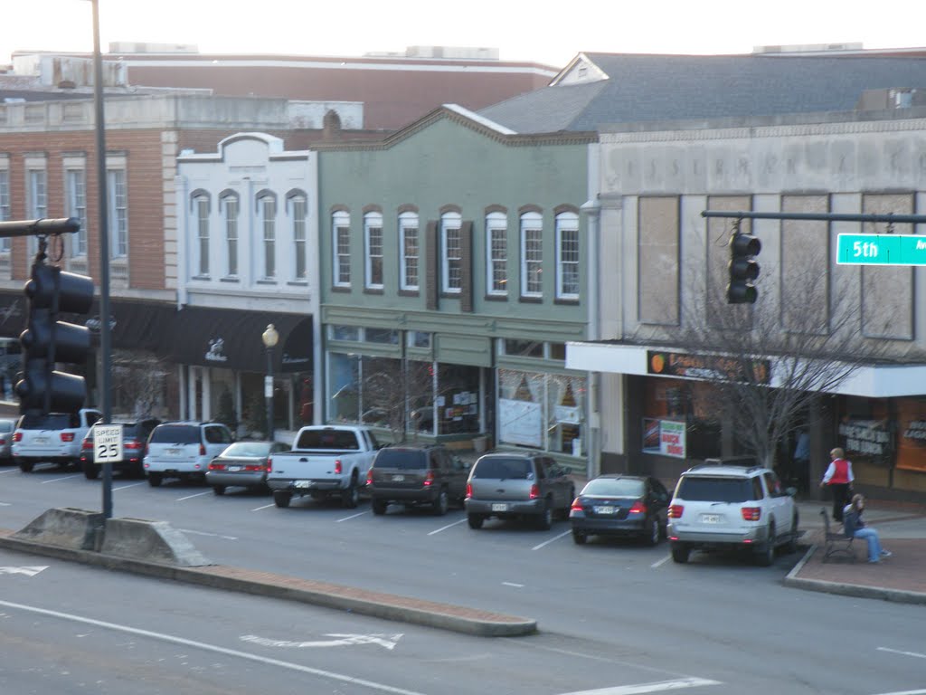
[{"label": "white SUV parked left of the speed limit sign pole", "polygon": [[81,442],[102,413],[91,408],[78,412],[22,415],[13,432],[13,461],[23,473],[36,463],[78,466]]}]

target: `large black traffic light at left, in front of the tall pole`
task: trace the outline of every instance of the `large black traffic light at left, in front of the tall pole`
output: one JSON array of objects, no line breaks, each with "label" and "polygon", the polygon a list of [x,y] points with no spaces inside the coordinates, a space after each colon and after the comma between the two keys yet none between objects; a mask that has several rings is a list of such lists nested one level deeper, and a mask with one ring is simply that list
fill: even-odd
[{"label": "large black traffic light at left, in front of the tall pole", "polygon": [[90,330],[58,321],[58,314],[87,313],[94,301],[94,282],[37,259],[24,291],[29,318],[26,330],[19,335],[23,373],[16,385],[19,411],[77,412],[86,398],[83,377],[58,372],[55,365],[86,361],[90,354]]}]

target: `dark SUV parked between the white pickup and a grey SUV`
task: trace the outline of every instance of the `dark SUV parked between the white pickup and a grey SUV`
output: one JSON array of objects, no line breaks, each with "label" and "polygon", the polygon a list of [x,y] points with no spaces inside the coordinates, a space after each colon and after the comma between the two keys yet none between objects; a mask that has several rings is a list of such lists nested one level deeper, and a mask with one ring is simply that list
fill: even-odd
[{"label": "dark SUV parked between the white pickup and a grey SUV", "polygon": [[466,493],[466,463],[440,444],[396,444],[380,449],[367,473],[367,491],[374,514],[386,513],[390,502],[406,507],[428,505],[445,514],[451,501]]}]

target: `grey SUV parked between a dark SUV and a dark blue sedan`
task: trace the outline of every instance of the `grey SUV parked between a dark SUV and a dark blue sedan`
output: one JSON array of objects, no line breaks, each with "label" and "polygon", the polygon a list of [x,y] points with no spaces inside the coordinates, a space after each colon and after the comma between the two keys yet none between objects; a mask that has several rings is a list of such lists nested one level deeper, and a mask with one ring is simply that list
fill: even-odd
[{"label": "grey SUV parked between a dark SUV and a dark blue sedan", "polygon": [[569,470],[548,456],[516,452],[483,454],[469,471],[466,512],[469,528],[490,517],[528,518],[548,529],[554,516],[566,518],[576,496]]}]

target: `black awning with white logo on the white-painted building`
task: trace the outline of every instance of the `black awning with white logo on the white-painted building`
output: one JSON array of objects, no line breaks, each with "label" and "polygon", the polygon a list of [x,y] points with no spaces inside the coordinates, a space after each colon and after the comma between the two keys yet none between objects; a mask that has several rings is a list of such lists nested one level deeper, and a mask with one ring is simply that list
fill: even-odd
[{"label": "black awning with white logo on the white-painted building", "polygon": [[269,323],[280,334],[273,371],[310,372],[312,317],[306,314],[184,307],[171,321],[166,355],[181,364],[263,373],[267,353],[261,335]]}]

